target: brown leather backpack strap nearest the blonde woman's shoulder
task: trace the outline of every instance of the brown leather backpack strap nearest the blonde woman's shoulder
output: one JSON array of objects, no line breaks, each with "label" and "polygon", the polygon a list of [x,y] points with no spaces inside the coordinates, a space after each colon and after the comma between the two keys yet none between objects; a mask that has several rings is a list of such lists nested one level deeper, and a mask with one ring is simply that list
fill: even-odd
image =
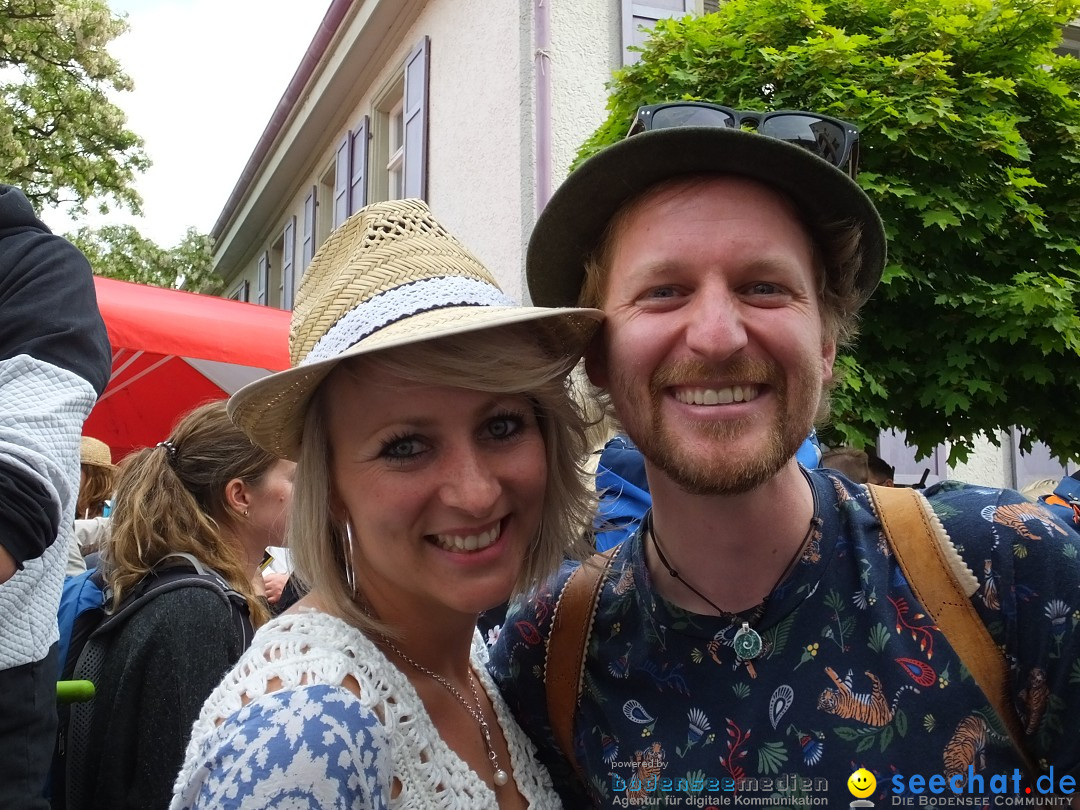
[{"label": "brown leather backpack strap nearest the blonde woman's shoulder", "polygon": [[594,554],[570,575],[555,603],[548,634],[544,656],[548,719],[555,742],[579,777],[582,772],[573,756],[573,715],[585,676],[585,651],[596,604],[618,550],[616,545],[603,554]]}]

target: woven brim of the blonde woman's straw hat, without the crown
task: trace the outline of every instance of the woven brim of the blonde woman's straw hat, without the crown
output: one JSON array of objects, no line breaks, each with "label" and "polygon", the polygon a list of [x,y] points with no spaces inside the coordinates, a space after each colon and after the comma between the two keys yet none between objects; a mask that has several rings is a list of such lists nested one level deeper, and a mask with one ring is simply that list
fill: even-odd
[{"label": "woven brim of the blonde woman's straw hat, without the crown", "polygon": [[553,357],[564,357],[569,370],[581,357],[603,318],[604,314],[594,309],[538,307],[448,307],[422,312],[379,329],[334,357],[279,372],[244,386],[230,397],[229,416],[253,443],[295,461],[311,397],[342,360],[535,321],[541,343]]}]

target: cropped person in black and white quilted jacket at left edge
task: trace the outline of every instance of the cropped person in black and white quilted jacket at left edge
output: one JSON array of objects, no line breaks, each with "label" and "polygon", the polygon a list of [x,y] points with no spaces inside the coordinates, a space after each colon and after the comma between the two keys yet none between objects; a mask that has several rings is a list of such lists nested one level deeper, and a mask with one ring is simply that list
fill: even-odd
[{"label": "cropped person in black and white quilted jacket at left edge", "polygon": [[0,185],[0,807],[48,808],[82,423],[111,366],[90,264]]}]

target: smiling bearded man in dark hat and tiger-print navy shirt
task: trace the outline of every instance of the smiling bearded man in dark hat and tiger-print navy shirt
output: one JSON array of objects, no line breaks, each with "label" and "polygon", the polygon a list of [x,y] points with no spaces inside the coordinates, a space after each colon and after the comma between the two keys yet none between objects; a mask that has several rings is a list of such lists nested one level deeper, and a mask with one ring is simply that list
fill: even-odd
[{"label": "smiling bearded man in dark hat and tiger-print navy shirt", "polygon": [[[572,767],[544,652],[573,565],[508,617],[500,688],[566,807],[847,807],[860,768],[878,806],[916,804],[932,774],[986,792],[1022,767],[990,702],[866,489],[795,459],[885,265],[854,127],[676,103],[631,133],[554,194],[527,273],[539,305],[606,312],[586,368],[645,455],[652,511],[599,591]],[[1080,775],[1080,538],[1015,492],[928,496],[978,577],[1025,747],[1055,780]]]}]

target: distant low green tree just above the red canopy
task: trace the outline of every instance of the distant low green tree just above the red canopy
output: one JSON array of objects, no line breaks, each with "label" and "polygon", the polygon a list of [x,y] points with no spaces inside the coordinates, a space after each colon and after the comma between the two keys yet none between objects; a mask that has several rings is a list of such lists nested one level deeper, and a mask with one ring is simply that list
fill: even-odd
[{"label": "distant low green tree just above the red canopy", "polygon": [[221,278],[211,261],[212,240],[194,228],[167,249],[130,225],[80,228],[67,239],[86,254],[97,275],[211,294],[221,291]]}]

